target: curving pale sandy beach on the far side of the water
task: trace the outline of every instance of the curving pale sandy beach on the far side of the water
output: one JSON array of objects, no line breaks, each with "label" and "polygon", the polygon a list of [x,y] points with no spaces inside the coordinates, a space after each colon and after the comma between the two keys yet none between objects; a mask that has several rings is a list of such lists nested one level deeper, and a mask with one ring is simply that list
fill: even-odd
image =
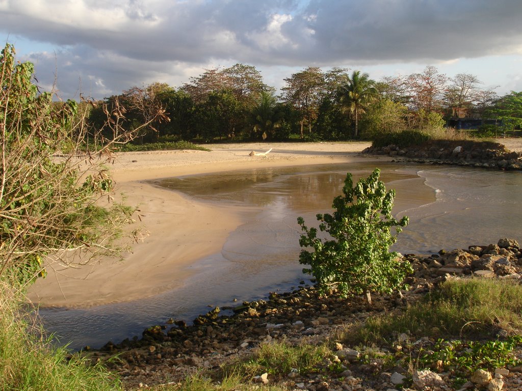
[{"label": "curving pale sandy beach on the far side of the water", "polygon": [[[138,205],[149,236],[132,246],[123,261],[100,259],[80,268],[53,265],[31,287],[40,307],[86,308],[131,301],[180,287],[197,260],[219,252],[229,233],[242,224],[239,214],[152,186],[150,179],[228,172],[238,169],[347,163],[367,142],[241,143],[207,145],[208,151],[121,153],[110,165],[115,196]],[[250,152],[272,151],[266,156]],[[387,160],[386,157],[372,159]]]}]

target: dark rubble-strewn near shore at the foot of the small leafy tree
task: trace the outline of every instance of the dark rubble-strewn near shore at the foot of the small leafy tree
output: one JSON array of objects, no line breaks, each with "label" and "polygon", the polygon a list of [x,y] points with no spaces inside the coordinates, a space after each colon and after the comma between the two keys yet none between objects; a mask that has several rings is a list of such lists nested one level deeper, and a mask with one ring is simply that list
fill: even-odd
[{"label": "dark rubble-strewn near shore at the foot of the small leafy tree", "polygon": [[[394,390],[398,387],[394,379],[399,375],[404,377],[406,369],[391,371],[378,362],[368,364],[346,358],[346,351],[352,350],[335,345],[335,335],[340,329],[347,324],[364,322],[370,316],[400,312],[448,278],[517,281],[522,278],[522,252],[511,239],[501,239],[488,246],[441,250],[430,256],[407,254],[405,257],[414,269],[414,274],[406,279],[409,289],[375,297],[372,308],[360,297],[347,300],[333,294],[325,298],[320,297],[314,287],[301,286],[285,294],[271,293],[266,300],[244,302],[228,309],[232,312],[230,315],[221,315],[222,311],[216,308],[198,316],[192,325],[171,320],[169,324],[149,327],[140,339],[127,339],[121,344],[109,342],[97,351],[84,350],[82,354],[95,362],[105,362],[121,376],[125,387],[133,389],[167,381],[176,384],[200,370],[219,372],[222,363],[248,357],[260,344],[274,340],[312,345],[331,341],[333,350],[337,350],[336,357],[341,359],[343,368],[346,367],[342,373],[289,374],[283,379],[259,377],[260,381],[278,381],[288,384],[290,389],[310,391]],[[430,343],[433,341],[425,340],[425,344]],[[117,360],[111,360],[116,356]],[[503,390],[522,387],[519,370],[514,368],[504,373]],[[442,377],[441,381],[448,384],[447,378]]]}]

